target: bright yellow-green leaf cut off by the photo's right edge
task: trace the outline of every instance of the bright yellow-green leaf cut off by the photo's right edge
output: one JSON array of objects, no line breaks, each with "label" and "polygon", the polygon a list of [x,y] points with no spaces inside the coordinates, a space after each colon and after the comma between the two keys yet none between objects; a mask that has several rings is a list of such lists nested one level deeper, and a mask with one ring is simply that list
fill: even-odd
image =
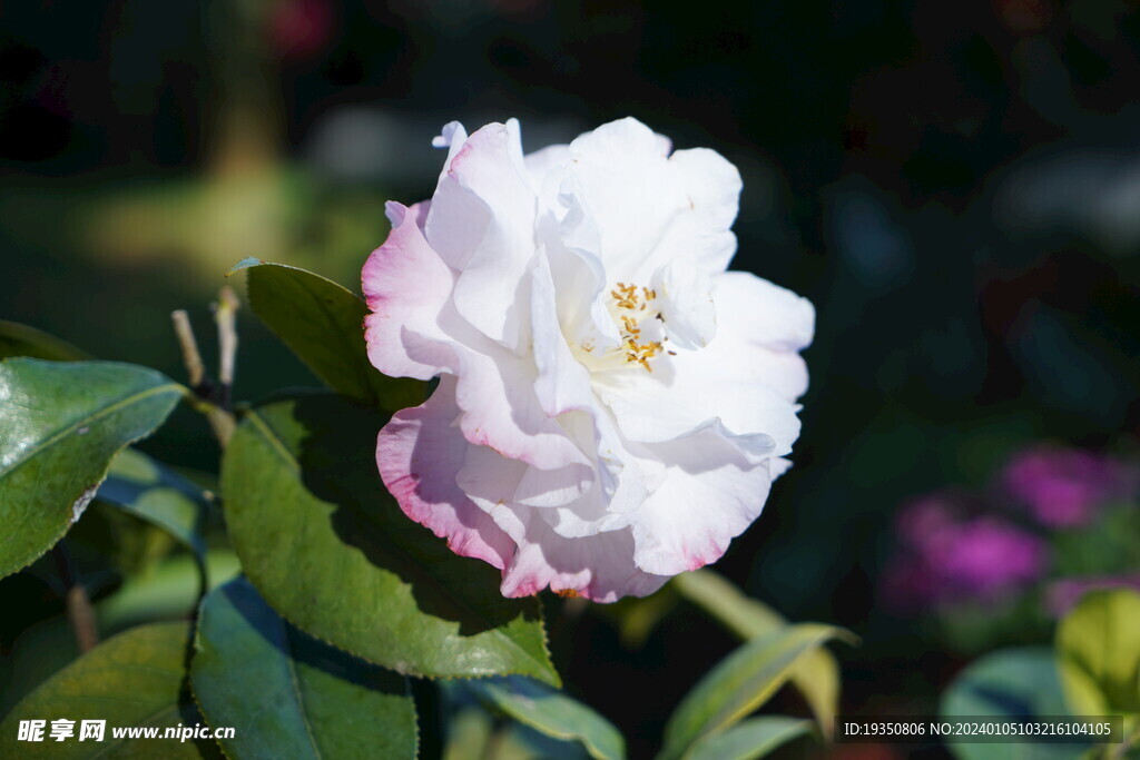
[{"label": "bright yellow-green leaf cut off by the photo's right edge", "polygon": [[1140,594],[1086,594],[1057,628],[1057,659],[1075,714],[1140,712]]}]

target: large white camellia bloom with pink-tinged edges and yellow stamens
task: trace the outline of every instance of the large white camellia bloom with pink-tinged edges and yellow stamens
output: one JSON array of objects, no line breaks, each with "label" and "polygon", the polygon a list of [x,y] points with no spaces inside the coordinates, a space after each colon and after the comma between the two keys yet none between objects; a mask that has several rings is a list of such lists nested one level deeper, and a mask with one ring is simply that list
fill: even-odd
[{"label": "large white camellia bloom with pink-tinged edges and yellow stamens", "polygon": [[806,300],[725,271],[741,181],[633,119],[524,156],[456,122],[430,202],[389,203],[368,356],[439,387],[380,433],[413,520],[503,571],[612,602],[715,562],[799,434]]}]

